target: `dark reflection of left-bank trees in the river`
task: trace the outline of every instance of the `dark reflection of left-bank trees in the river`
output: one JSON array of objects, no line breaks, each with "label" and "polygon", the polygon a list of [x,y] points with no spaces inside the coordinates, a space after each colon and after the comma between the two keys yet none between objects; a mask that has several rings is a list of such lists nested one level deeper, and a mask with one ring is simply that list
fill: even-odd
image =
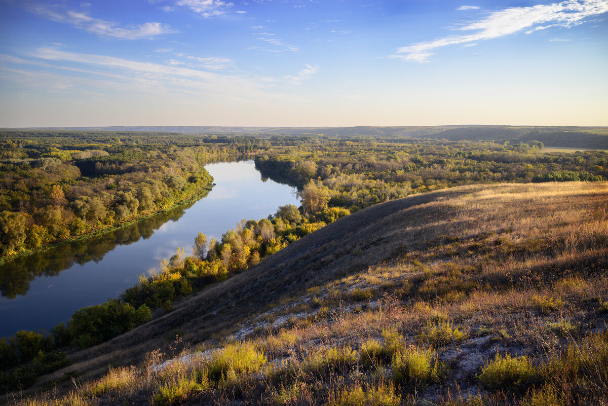
[{"label": "dark reflection of left-bank trees in the river", "polygon": [[2,296],[13,299],[17,295],[27,294],[30,282],[36,278],[56,276],[74,264],[84,265],[89,261],[99,263],[116,246],[132,244],[140,238],[148,239],[165,222],[177,221],[194,203],[176,207],[112,232],[9,261],[0,267],[0,292]]}]

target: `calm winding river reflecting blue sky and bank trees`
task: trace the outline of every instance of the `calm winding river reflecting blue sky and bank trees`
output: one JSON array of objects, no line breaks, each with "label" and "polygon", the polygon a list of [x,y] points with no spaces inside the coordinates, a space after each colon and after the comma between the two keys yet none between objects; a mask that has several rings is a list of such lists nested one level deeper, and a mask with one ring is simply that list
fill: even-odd
[{"label": "calm winding river reflecting blue sky and bank trees", "polygon": [[253,161],[206,165],[215,187],[206,198],[108,235],[67,244],[0,267],[0,336],[50,329],[74,311],[117,297],[197,233],[220,239],[241,219],[300,205],[294,188],[262,179]]}]

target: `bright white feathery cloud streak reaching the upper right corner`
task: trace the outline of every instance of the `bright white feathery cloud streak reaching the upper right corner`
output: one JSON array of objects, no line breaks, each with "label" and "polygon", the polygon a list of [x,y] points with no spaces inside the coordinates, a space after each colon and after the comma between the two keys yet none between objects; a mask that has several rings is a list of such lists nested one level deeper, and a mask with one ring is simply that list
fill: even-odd
[{"label": "bright white feathery cloud streak reaching the upper right corner", "polygon": [[396,50],[393,58],[426,62],[440,47],[492,40],[525,31],[532,33],[550,27],[572,27],[590,16],[608,12],[608,0],[568,0],[531,7],[510,7],[489,13],[486,18],[468,21],[457,30],[475,31],[468,35],[450,35],[437,40],[412,44]]}]

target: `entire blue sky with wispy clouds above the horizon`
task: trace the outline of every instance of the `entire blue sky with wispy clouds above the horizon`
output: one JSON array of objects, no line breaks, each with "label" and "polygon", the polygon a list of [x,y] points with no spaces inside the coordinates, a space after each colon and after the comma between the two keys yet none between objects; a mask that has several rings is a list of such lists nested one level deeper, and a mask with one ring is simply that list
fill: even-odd
[{"label": "entire blue sky with wispy clouds above the horizon", "polygon": [[608,0],[0,0],[0,126],[608,125]]}]

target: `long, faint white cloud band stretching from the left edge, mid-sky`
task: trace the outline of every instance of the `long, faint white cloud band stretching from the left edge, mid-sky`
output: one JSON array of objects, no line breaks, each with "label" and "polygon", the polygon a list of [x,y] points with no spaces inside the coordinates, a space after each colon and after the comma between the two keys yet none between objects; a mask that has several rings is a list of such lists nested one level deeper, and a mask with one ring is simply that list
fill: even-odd
[{"label": "long, faint white cloud band stretching from the left edge, mid-sky", "polygon": [[[167,60],[164,64],[126,60],[123,58],[89,53],[66,52],[43,47],[32,54],[35,59],[24,60],[12,55],[0,55],[0,69],[4,78],[19,81],[37,89],[59,91],[61,89],[80,89],[82,92],[103,94],[103,89],[111,92],[131,94],[178,94],[221,98],[225,100],[278,100],[285,98],[271,92],[280,91],[285,85],[300,84],[317,71],[318,66],[305,65],[295,76],[282,78],[260,77],[243,72],[238,74],[219,74],[195,69],[196,64]],[[196,58],[199,67],[221,69],[233,67],[228,58]],[[67,62],[67,64],[66,64]],[[41,71],[26,71],[21,66],[29,65]],[[56,74],[49,70],[71,72]],[[48,86],[41,83],[49,82]],[[112,93],[113,94],[113,93]],[[289,94],[292,98],[293,95]]]}]

